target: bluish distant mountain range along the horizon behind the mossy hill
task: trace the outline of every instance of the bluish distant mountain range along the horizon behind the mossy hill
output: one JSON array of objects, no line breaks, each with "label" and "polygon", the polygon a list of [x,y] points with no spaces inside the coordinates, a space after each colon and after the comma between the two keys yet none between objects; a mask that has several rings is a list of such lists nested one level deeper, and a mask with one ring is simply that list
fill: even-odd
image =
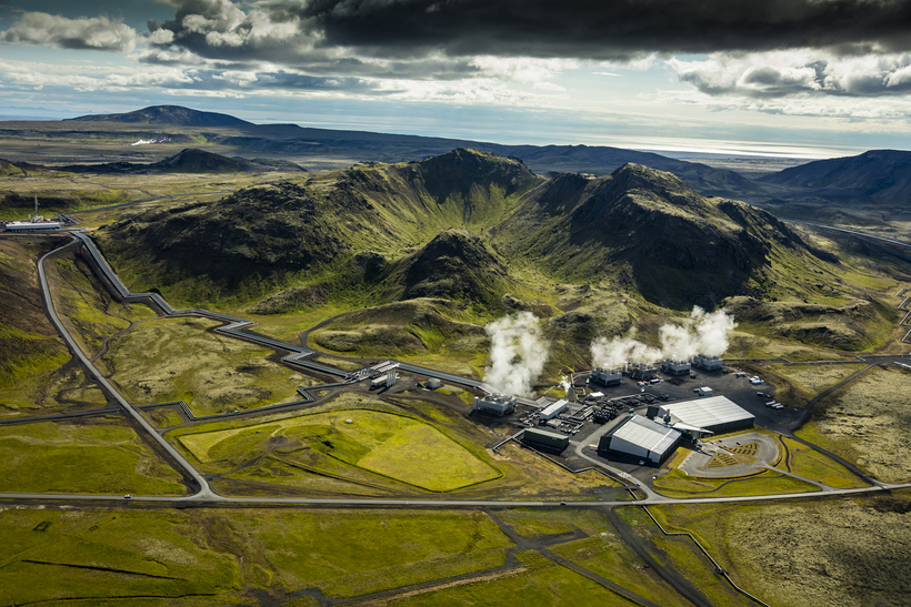
[{"label": "bluish distant mountain range along the horizon behind the mossy hill", "polygon": [[[754,204],[785,205],[777,208],[791,216],[814,215],[827,203],[851,205],[903,205],[911,194],[911,152],[870,151],[859,156],[822,160],[787,169],[780,173],[749,180],[734,171],[715,169],[699,162],[670,159],[657,153],[610,146],[590,145],[503,145],[419,135],[398,135],[367,131],[312,129],[296,124],[253,124],[232,115],[203,112],[179,105],[154,105],[119,114],[83,115],[61,124],[80,124],[79,135],[91,124],[119,130],[143,140],[160,140],[171,144],[217,145],[234,150],[244,158],[228,161],[178,162],[181,166],[209,165],[219,171],[254,171],[257,165],[276,165],[282,156],[316,165],[350,165],[357,160],[372,162],[407,162],[444,154],[457,149],[472,149],[505,158],[519,158],[539,174],[562,172],[610,174],[625,163],[650,166],[675,174],[703,196],[745,200]],[[61,136],[62,133],[56,133]],[[272,158],[273,160],[266,160]],[[197,158],[199,160],[199,158]],[[326,164],[328,161],[329,164]],[[162,161],[164,163],[170,160]],[[241,166],[238,163],[251,164]],[[287,160],[284,161],[288,162]],[[284,168],[293,170],[294,162]],[[159,163],[161,164],[161,163]],[[142,168],[142,169],[140,169]],[[93,166],[66,166],[81,172],[131,172],[134,170],[169,170],[168,166],[108,163]],[[822,205],[822,206],[820,206]],[[823,209],[824,210],[824,209]]]}]

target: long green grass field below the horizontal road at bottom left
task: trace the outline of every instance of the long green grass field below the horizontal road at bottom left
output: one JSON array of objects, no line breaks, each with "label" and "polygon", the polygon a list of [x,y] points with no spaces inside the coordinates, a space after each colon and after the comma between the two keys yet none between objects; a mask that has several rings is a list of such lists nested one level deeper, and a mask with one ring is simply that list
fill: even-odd
[{"label": "long green grass field below the horizontal road at bottom left", "polygon": [[512,547],[487,515],[444,510],[7,508],[0,532],[0,596],[14,605],[353,597],[498,567]]}]

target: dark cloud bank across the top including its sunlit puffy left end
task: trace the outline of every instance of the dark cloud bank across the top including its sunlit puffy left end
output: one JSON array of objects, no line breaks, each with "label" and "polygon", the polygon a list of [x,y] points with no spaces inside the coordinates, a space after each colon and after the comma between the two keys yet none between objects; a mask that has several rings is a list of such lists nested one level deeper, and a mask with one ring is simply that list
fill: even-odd
[{"label": "dark cloud bank across the top including its sunlit puffy left end", "polygon": [[[206,58],[287,61],[308,50],[373,57],[627,60],[652,52],[911,49],[911,0],[173,0],[154,32]],[[292,30],[292,33],[289,33]],[[153,38],[154,43],[154,38]],[[306,59],[301,57],[300,59]]]}]

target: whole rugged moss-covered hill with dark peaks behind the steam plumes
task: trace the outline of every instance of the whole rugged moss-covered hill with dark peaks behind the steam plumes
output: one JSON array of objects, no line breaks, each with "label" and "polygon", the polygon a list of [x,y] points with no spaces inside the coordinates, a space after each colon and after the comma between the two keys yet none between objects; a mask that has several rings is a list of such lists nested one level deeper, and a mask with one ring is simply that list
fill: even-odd
[{"label": "whole rugged moss-covered hill with dark peaks behind the steam plumes", "polygon": [[777,254],[790,273],[824,264],[769,213],[702,198],[670,173],[627,164],[601,179],[544,180],[519,160],[463,149],[141,211],[94,237],[139,289],[187,303],[259,301],[264,313],[340,296],[448,297],[499,313],[505,293],[533,300],[544,283],[713,307],[768,294]]}]

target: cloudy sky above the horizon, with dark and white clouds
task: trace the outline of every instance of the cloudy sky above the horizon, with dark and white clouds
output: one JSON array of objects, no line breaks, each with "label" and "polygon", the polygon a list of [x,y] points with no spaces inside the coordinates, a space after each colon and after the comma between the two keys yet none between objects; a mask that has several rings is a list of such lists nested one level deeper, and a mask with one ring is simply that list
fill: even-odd
[{"label": "cloudy sky above the horizon, with dark and white clouds", "polygon": [[911,0],[0,0],[0,119],[730,155],[911,149]]}]

